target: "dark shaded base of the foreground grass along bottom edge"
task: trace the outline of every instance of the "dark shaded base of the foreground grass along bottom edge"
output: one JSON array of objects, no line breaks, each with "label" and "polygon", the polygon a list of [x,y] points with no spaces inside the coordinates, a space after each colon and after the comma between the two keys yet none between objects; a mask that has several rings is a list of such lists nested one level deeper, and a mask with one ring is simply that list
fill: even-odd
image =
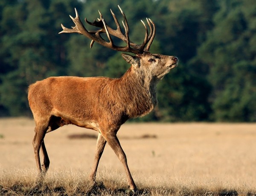
[{"label": "dark shaded base of the foreground grass along bottom edge", "polygon": [[256,192],[239,193],[237,190],[204,190],[204,189],[194,189],[189,190],[184,188],[179,190],[176,188],[173,189],[164,189],[161,187],[140,189],[137,193],[132,193],[128,188],[120,188],[112,190],[109,187],[105,187],[102,182],[97,182],[95,185],[92,185],[90,189],[85,190],[82,186],[76,187],[72,194],[64,188],[64,186],[56,186],[50,188],[45,184],[38,182],[33,187],[27,187],[22,183],[13,185],[11,187],[3,187],[0,185],[0,196],[256,196]]}]

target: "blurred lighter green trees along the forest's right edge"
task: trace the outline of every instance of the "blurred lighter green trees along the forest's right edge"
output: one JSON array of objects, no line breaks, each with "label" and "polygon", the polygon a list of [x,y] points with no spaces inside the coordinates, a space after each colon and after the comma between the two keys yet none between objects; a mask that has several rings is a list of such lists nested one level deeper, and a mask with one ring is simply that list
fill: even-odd
[{"label": "blurred lighter green trees along the forest's right edge", "polygon": [[198,48],[196,58],[209,67],[212,116],[217,121],[256,121],[256,5],[250,3],[221,2],[215,27]]}]

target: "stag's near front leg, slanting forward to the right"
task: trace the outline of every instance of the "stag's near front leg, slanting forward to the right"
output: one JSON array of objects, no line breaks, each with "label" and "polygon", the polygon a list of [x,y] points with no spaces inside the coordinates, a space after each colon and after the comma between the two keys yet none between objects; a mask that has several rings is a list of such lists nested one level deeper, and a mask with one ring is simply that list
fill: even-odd
[{"label": "stag's near front leg, slanting forward to the right", "polygon": [[118,140],[118,138],[116,137],[116,133],[113,132],[108,132],[105,135],[105,138],[108,142],[108,144],[110,145],[110,147],[113,149],[113,151],[116,153],[116,156],[119,158],[119,160],[122,162],[122,165],[125,168],[125,173],[128,179],[128,185],[131,191],[136,192],[137,191],[137,187],[134,183],[134,180],[131,177],[131,172],[128,168],[127,165],[127,159],[126,159],[126,155],[125,152],[123,151],[120,142]]}]

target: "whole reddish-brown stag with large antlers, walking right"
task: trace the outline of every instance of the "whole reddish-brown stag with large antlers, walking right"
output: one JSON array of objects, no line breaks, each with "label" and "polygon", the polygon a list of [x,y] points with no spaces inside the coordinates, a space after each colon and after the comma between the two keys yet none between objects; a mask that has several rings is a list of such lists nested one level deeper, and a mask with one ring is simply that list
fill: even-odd
[{"label": "whole reddish-brown stag with large antlers, walking right", "polygon": [[[151,54],[149,48],[154,40],[156,27],[151,19],[146,19],[145,38],[138,45],[129,39],[129,26],[124,12],[122,14],[122,32],[119,21],[112,10],[111,14],[116,23],[116,29],[105,22],[102,14],[100,18],[85,22],[90,26],[99,28],[96,31],[87,30],[79,18],[75,8],[76,17],[70,16],[75,23],[72,28],[61,24],[61,33],[78,33],[89,38],[90,48],[95,42],[122,53],[123,59],[131,67],[120,78],[108,77],[48,77],[29,85],[28,100],[35,121],[35,136],[32,141],[36,166],[39,173],[46,173],[49,168],[49,157],[44,144],[47,133],[64,125],[76,125],[98,132],[96,151],[93,166],[89,175],[90,181],[95,183],[96,171],[106,143],[123,165],[128,180],[129,190],[137,191],[134,179],[128,168],[127,158],[116,134],[120,126],[128,119],[144,116],[157,105],[157,83],[169,71],[177,66],[178,58],[163,54]],[[95,28],[94,27],[94,28]],[[107,38],[103,38],[105,34]],[[126,43],[118,46],[113,43],[112,37]],[[39,152],[43,157],[41,165]]]}]

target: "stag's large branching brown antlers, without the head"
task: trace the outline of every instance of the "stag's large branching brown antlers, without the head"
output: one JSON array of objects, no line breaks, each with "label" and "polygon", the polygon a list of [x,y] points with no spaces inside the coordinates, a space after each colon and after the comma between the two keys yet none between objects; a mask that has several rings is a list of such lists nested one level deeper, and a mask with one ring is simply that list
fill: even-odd
[{"label": "stag's large branching brown antlers, without the head", "polygon": [[[155,25],[154,25],[153,21],[147,18],[148,26],[150,28],[150,34],[148,35],[148,28],[146,27],[145,23],[141,20],[141,22],[143,23],[143,26],[145,27],[145,38],[144,38],[144,41],[141,45],[137,45],[137,44],[130,41],[130,39],[129,39],[129,26],[128,26],[125,14],[122,11],[122,9],[120,8],[120,6],[118,6],[118,8],[121,11],[122,16],[123,16],[124,21],[125,21],[125,22],[122,21],[122,25],[125,28],[125,34],[122,33],[119,22],[116,19],[116,16],[115,16],[115,14],[113,13],[112,10],[110,10],[110,11],[111,11],[113,19],[115,20],[115,23],[116,23],[116,30],[114,30],[113,28],[111,28],[107,25],[104,18],[102,17],[102,14],[99,12],[100,18],[98,18],[98,21],[94,20],[93,23],[91,23],[86,18],[85,18],[85,21],[89,25],[96,26],[96,27],[99,27],[101,29],[99,29],[97,31],[88,31],[84,27],[83,23],[81,23],[81,20],[79,18],[79,14],[78,14],[76,8],[75,8],[76,17],[73,18],[72,16],[70,16],[70,18],[73,20],[73,22],[75,23],[76,26],[72,27],[72,29],[71,29],[71,28],[66,28],[61,24],[61,27],[62,27],[63,31],[59,32],[59,34],[61,34],[61,33],[79,33],[79,34],[83,34],[85,37],[88,37],[92,40],[91,43],[90,43],[90,48],[93,47],[94,42],[97,42],[97,43],[99,43],[99,44],[101,44],[105,47],[111,48],[111,49],[116,50],[116,51],[131,52],[131,53],[134,53],[134,54],[142,54],[144,51],[148,51],[149,48],[150,48],[150,45],[152,44],[152,42],[154,40],[154,36],[155,36],[155,33],[156,33],[156,28],[155,28]],[[153,28],[152,28],[152,26],[153,26]],[[102,33],[107,34],[108,41],[106,41],[102,38],[102,36],[100,35]],[[123,46],[115,45],[113,43],[113,40],[112,40],[110,35],[118,37],[119,39],[126,42],[126,46],[123,47]]]}]

